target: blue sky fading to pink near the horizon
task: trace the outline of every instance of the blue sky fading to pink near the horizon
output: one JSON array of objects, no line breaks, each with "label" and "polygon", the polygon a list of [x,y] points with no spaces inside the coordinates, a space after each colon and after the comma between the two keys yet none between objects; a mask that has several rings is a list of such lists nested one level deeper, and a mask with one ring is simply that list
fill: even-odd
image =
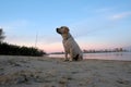
[{"label": "blue sky fading to pink near the horizon", "polygon": [[131,0],[0,0],[5,42],[63,51],[63,25],[82,50],[129,47]]}]

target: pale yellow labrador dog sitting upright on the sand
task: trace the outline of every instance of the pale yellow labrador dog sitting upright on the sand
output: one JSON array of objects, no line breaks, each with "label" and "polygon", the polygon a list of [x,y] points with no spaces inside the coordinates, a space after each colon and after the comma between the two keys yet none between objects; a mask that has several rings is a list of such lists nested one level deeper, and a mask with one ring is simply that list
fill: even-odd
[{"label": "pale yellow labrador dog sitting upright on the sand", "polygon": [[[61,26],[56,29],[58,34],[60,34],[63,38],[62,44],[66,52],[66,61],[79,61],[83,60],[82,51],[76,44],[76,41],[73,39],[71,34],[69,33],[69,27]],[[68,54],[70,58],[68,58]]]}]

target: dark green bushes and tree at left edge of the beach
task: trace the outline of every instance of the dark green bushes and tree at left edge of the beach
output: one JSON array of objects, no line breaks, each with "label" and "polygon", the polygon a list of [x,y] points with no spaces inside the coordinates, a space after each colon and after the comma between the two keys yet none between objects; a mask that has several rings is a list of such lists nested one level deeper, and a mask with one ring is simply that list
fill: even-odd
[{"label": "dark green bushes and tree at left edge of the beach", "polygon": [[15,45],[10,45],[3,42],[5,38],[2,28],[0,28],[0,54],[4,55],[33,55],[33,57],[41,57],[46,54],[43,50],[33,48],[33,47],[21,47]]}]

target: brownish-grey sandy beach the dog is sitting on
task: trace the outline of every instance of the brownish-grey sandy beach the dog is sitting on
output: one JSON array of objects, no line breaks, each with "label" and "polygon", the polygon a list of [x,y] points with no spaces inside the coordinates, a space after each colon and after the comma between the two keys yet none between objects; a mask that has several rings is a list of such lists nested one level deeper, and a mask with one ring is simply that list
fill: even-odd
[{"label": "brownish-grey sandy beach the dog is sitting on", "polygon": [[131,61],[0,55],[0,87],[131,87]]}]

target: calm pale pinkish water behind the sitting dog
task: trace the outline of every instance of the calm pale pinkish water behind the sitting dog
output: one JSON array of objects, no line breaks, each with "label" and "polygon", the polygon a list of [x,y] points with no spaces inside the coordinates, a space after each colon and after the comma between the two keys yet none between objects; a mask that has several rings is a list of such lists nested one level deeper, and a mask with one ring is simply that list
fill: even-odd
[{"label": "calm pale pinkish water behind the sitting dog", "polygon": [[[51,58],[64,58],[64,54],[49,54]],[[83,53],[84,59],[131,61],[131,52]]]}]

